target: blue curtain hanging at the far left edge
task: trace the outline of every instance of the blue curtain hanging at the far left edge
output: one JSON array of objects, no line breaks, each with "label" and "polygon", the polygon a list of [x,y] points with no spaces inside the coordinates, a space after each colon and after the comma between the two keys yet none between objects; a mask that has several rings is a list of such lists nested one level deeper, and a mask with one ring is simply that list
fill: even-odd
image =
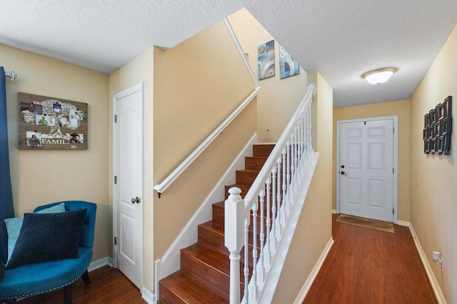
[{"label": "blue curtain hanging at the far left edge", "polygon": [[8,123],[6,122],[5,70],[0,66],[0,260],[8,258],[8,234],[4,219],[14,217],[11,175],[9,174]]}]

